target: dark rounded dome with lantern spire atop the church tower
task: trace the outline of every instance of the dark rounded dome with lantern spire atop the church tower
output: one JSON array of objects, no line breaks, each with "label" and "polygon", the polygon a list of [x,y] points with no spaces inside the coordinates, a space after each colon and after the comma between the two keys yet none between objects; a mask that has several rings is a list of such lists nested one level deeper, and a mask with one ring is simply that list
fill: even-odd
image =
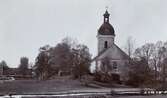
[{"label": "dark rounded dome with lantern spire atop the church tower", "polygon": [[115,31],[113,26],[109,23],[109,16],[110,14],[106,10],[104,13],[104,23],[100,26],[98,30],[99,35],[114,35],[115,36]]}]

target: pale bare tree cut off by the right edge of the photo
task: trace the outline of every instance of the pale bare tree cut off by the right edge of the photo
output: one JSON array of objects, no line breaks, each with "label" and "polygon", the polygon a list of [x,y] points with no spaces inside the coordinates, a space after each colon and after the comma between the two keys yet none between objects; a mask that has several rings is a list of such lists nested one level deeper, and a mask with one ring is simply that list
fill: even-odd
[{"label": "pale bare tree cut off by the right edge of the photo", "polygon": [[165,86],[166,82],[166,71],[167,71],[167,47],[166,43],[158,41],[155,44],[154,53],[152,56],[152,65],[154,66],[155,81],[162,81],[162,87]]}]

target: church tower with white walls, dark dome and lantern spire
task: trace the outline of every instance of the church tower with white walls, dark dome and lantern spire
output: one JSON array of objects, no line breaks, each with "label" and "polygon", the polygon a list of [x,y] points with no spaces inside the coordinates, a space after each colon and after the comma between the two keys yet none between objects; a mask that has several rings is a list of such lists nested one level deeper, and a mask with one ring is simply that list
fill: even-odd
[{"label": "church tower with white walls, dark dome and lantern spire", "polygon": [[102,51],[110,48],[114,44],[115,31],[113,26],[109,22],[110,14],[106,10],[104,15],[104,22],[98,29],[97,40],[98,40],[98,54]]}]

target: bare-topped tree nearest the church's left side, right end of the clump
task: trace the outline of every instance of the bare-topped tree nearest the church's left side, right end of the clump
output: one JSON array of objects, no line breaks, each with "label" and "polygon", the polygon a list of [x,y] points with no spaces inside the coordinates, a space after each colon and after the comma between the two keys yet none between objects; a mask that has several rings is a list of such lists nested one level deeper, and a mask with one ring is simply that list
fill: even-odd
[{"label": "bare-topped tree nearest the church's left side, right end of the clump", "polygon": [[89,49],[85,45],[78,45],[76,49],[72,49],[73,53],[73,75],[75,78],[81,79],[85,74],[89,73],[91,64],[91,55]]}]

